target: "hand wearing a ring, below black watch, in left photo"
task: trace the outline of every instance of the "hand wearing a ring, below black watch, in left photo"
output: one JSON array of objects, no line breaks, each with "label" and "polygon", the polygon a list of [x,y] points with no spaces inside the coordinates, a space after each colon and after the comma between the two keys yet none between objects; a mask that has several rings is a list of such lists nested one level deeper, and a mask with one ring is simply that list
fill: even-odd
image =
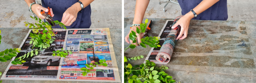
[{"label": "hand wearing a ring, below black watch, in left photo", "polygon": [[72,5],[63,13],[61,23],[63,23],[66,26],[70,26],[77,19],[78,12],[79,11],[77,11],[77,8]]}]

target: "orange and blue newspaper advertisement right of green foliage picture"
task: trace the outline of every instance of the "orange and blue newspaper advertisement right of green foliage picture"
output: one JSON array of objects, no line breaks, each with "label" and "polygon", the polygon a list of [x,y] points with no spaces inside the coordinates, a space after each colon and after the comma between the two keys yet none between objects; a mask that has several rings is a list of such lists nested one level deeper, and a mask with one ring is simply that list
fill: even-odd
[{"label": "orange and blue newspaper advertisement right of green foliage picture", "polygon": [[110,53],[108,42],[97,42],[94,41],[94,51],[95,53]]}]

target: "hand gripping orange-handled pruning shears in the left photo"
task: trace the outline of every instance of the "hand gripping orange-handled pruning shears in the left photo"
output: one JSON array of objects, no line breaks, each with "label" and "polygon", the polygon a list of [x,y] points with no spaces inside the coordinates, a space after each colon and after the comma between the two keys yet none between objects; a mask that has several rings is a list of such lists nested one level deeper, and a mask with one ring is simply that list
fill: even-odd
[{"label": "hand gripping orange-handled pruning shears in the left photo", "polygon": [[[38,16],[38,18],[40,19],[45,19],[45,17],[40,13],[41,10],[43,10],[44,12],[48,12],[49,10],[45,7],[42,7],[41,5],[39,4],[33,4],[31,6],[31,10]],[[52,12],[52,9],[50,8],[50,12],[51,12],[51,16],[53,17],[54,14]]]}]

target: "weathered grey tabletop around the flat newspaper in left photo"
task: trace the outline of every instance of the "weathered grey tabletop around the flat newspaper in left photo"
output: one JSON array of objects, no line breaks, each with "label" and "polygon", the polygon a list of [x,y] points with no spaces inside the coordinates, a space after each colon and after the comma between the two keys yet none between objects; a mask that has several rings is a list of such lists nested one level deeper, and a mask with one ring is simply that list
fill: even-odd
[{"label": "weathered grey tabletop around the flat newspaper in left photo", "polygon": [[[0,28],[1,30],[1,44],[0,51],[10,48],[18,48],[22,40],[26,37],[29,28]],[[110,36],[114,47],[115,58],[119,70],[119,76],[122,80],[122,44],[120,44],[122,29],[110,29]],[[0,72],[5,72],[9,61],[0,62]],[[0,78],[2,75],[0,76]],[[50,80],[3,80],[2,83],[84,83],[83,81],[50,81]],[[110,82],[86,82],[86,83],[110,83]]]}]

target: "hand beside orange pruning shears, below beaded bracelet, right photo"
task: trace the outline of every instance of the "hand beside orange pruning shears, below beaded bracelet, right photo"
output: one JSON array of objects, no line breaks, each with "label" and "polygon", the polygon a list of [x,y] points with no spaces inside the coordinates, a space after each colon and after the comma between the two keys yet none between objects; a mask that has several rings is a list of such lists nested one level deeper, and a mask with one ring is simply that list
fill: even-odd
[{"label": "hand beside orange pruning shears, below beaded bracelet, right photo", "polygon": [[[131,28],[130,32],[129,32],[129,33],[127,34],[127,36],[125,37],[125,41],[126,41],[127,43],[129,43],[128,39],[129,39],[129,35],[130,35],[131,31],[136,32],[137,27],[140,28],[140,26],[133,26],[133,27]],[[136,36],[137,36],[137,39],[136,39],[136,40],[138,40],[138,43],[141,43],[141,38],[143,38],[144,34],[143,34],[143,33],[138,34],[138,33],[136,32]],[[130,40],[130,42],[131,42],[132,44],[136,44],[136,46],[138,46],[137,41],[136,41],[136,43],[133,43],[133,40]]]}]

